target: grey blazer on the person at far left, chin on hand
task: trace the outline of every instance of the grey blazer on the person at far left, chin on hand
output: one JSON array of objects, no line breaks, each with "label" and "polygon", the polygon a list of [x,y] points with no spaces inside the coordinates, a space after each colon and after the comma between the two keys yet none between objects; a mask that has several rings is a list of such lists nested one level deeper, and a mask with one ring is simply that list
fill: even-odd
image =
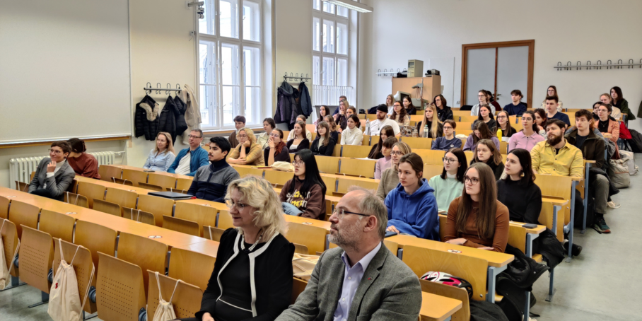
[{"label": "grey blazer on the person at far left, chin on hand", "polygon": [[51,158],[42,158],[42,161],[38,164],[38,168],[35,170],[33,180],[31,180],[29,184],[29,192],[34,192],[47,183],[49,193],[62,201],[64,199],[64,192],[69,189],[71,183],[74,182],[76,172],[74,172],[74,168],[71,168],[69,162],[65,161],[62,167],[56,172],[56,175],[47,178],[47,164],[50,162]]}]

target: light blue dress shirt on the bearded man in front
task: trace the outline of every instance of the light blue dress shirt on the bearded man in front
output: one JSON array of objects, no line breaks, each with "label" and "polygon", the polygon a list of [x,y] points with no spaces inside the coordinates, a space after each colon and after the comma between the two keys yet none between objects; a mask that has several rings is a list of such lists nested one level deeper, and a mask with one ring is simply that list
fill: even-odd
[{"label": "light blue dress shirt on the bearded man in front", "polygon": [[370,261],[372,261],[373,257],[377,255],[380,248],[381,243],[366,254],[361,261],[356,262],[353,267],[350,267],[346,252],[341,255],[341,260],[346,264],[346,271],[344,273],[344,284],[341,296],[339,297],[339,304],[337,304],[337,310],[334,310],[334,321],[345,321],[348,319],[348,313],[350,313],[350,305],[352,304],[354,293],[356,293],[356,289],[359,287],[361,278],[363,278],[363,274],[366,273],[366,269],[368,269]]}]

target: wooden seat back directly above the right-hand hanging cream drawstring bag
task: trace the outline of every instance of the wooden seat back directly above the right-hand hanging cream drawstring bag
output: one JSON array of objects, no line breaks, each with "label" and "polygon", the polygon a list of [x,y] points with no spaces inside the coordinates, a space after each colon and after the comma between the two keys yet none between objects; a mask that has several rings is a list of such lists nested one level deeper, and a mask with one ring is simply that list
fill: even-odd
[{"label": "wooden seat back directly above the right-hand hanging cream drawstring bag", "polygon": [[[163,274],[167,262],[167,250],[167,245],[139,235],[121,232],[118,240],[119,259],[136,264],[141,269],[158,271]],[[143,275],[143,281],[144,288],[147,288],[149,280],[146,274]]]}]

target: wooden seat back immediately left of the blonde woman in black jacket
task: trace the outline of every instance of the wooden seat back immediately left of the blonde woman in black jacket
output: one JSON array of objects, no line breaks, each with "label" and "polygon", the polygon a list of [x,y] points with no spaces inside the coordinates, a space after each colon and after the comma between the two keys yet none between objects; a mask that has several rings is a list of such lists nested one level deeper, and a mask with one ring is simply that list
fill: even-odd
[{"label": "wooden seat back immediately left of the blonde woman in black jacket", "polygon": [[170,277],[206,290],[207,282],[214,271],[215,257],[177,247],[172,248],[170,257]]}]

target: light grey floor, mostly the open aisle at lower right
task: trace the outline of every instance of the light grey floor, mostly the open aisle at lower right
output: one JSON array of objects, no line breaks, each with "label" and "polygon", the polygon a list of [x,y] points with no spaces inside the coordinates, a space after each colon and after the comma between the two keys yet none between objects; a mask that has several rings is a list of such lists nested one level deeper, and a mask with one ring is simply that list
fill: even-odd
[{"label": "light grey floor, mostly the open aisle at lower right", "polygon": [[[642,155],[636,163],[642,168]],[[593,229],[581,235],[576,230],[576,243],[584,250],[573,262],[562,262],[555,271],[552,302],[548,293],[548,274],[535,284],[537,305],[533,313],[539,321],[548,320],[642,320],[640,287],[642,266],[642,173],[631,177],[631,187],[613,197],[620,209],[609,209],[606,219],[611,234],[598,234]],[[636,210],[638,209],[638,210]],[[638,214],[636,214],[638,213]],[[0,292],[0,321],[51,320],[47,305],[27,308],[40,300],[40,291],[21,286]],[[637,315],[637,317],[636,317]],[[94,318],[92,320],[99,320]]]}]

